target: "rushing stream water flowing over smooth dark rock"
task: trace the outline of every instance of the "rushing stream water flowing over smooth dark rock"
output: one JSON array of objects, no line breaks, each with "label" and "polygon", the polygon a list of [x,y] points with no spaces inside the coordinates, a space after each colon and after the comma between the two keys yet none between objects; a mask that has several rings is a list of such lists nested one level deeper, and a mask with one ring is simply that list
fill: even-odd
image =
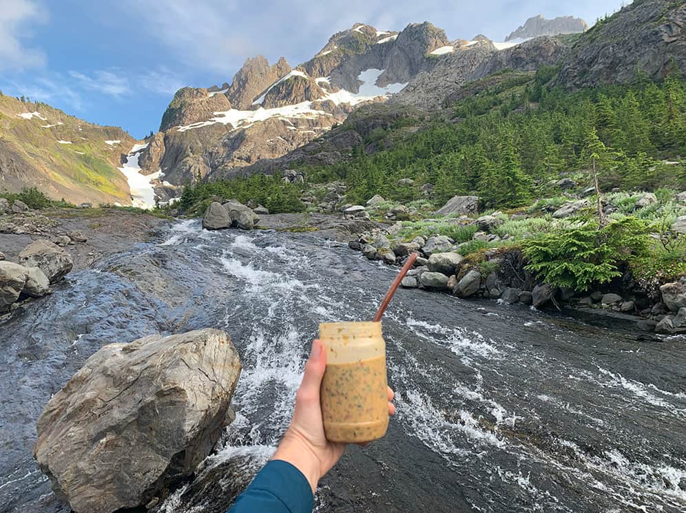
[{"label": "rushing stream water flowing over smooth dark rock", "polygon": [[[222,512],[287,426],[318,323],[373,316],[397,269],[313,234],[176,224],[0,325],[0,511],[67,512],[34,422],[110,342],[211,326],[243,372],[229,426],[158,511]],[[397,416],[349,448],[319,512],[683,512],[686,341],[522,306],[397,293],[384,320]]]}]

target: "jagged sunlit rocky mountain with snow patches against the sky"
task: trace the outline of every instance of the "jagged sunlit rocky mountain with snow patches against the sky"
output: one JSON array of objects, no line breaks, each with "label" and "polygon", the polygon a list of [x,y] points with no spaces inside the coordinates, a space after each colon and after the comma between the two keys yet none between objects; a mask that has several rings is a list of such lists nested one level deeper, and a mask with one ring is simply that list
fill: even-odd
[{"label": "jagged sunlit rocky mountain with snow patches against the sky", "polygon": [[[283,58],[270,65],[257,56],[245,61],[230,85],[179,90],[140,162],[144,169],[162,171],[173,184],[239,176],[260,160],[309,143],[362,105],[397,97],[406,105],[434,107],[446,94],[426,100],[432,89],[439,96],[445,89],[426,83],[435,78],[433,70],[441,67],[446,71],[439,75],[461,84],[481,68],[485,73],[508,65],[507,58],[484,63],[516,44],[493,43],[481,34],[472,41],[450,41],[427,22],[400,32],[355,23],[295,67]],[[543,61],[559,53],[548,52]]]}]

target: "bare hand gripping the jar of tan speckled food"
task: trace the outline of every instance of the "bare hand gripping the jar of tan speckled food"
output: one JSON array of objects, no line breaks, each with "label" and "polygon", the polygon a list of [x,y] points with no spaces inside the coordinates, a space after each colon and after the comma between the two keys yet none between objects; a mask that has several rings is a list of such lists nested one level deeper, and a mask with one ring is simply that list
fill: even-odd
[{"label": "bare hand gripping the jar of tan speckled food", "polygon": [[[271,459],[291,463],[310,483],[312,493],[317,490],[320,478],[329,472],[343,455],[346,444],[331,442],[324,435],[324,419],[320,405],[320,386],[326,370],[326,351],[320,340],[312,342],[310,357],[305,364],[295,412]],[[388,388],[388,415],[395,415],[393,390]]]}]

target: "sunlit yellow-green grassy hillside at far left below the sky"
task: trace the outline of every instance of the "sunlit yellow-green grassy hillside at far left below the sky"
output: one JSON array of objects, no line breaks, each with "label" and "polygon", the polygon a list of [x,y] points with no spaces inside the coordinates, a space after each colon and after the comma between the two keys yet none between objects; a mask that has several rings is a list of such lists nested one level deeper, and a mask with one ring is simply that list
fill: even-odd
[{"label": "sunlit yellow-green grassy hillside at far left below the sky", "polygon": [[0,96],[0,188],[37,187],[54,199],[130,205],[118,171],[134,138],[100,127],[45,103]]}]

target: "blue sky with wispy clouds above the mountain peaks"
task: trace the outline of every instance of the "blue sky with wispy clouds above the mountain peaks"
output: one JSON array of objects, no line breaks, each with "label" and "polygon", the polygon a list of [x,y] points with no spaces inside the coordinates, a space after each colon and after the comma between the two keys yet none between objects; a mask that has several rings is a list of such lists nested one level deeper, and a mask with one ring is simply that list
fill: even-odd
[{"label": "blue sky with wispy clouds above the mountain peaks", "polygon": [[528,17],[592,24],[627,0],[0,0],[0,90],[136,137],[159,127],[174,92],[231,77],[249,56],[295,66],[331,34],[430,21],[450,39],[495,41]]}]

